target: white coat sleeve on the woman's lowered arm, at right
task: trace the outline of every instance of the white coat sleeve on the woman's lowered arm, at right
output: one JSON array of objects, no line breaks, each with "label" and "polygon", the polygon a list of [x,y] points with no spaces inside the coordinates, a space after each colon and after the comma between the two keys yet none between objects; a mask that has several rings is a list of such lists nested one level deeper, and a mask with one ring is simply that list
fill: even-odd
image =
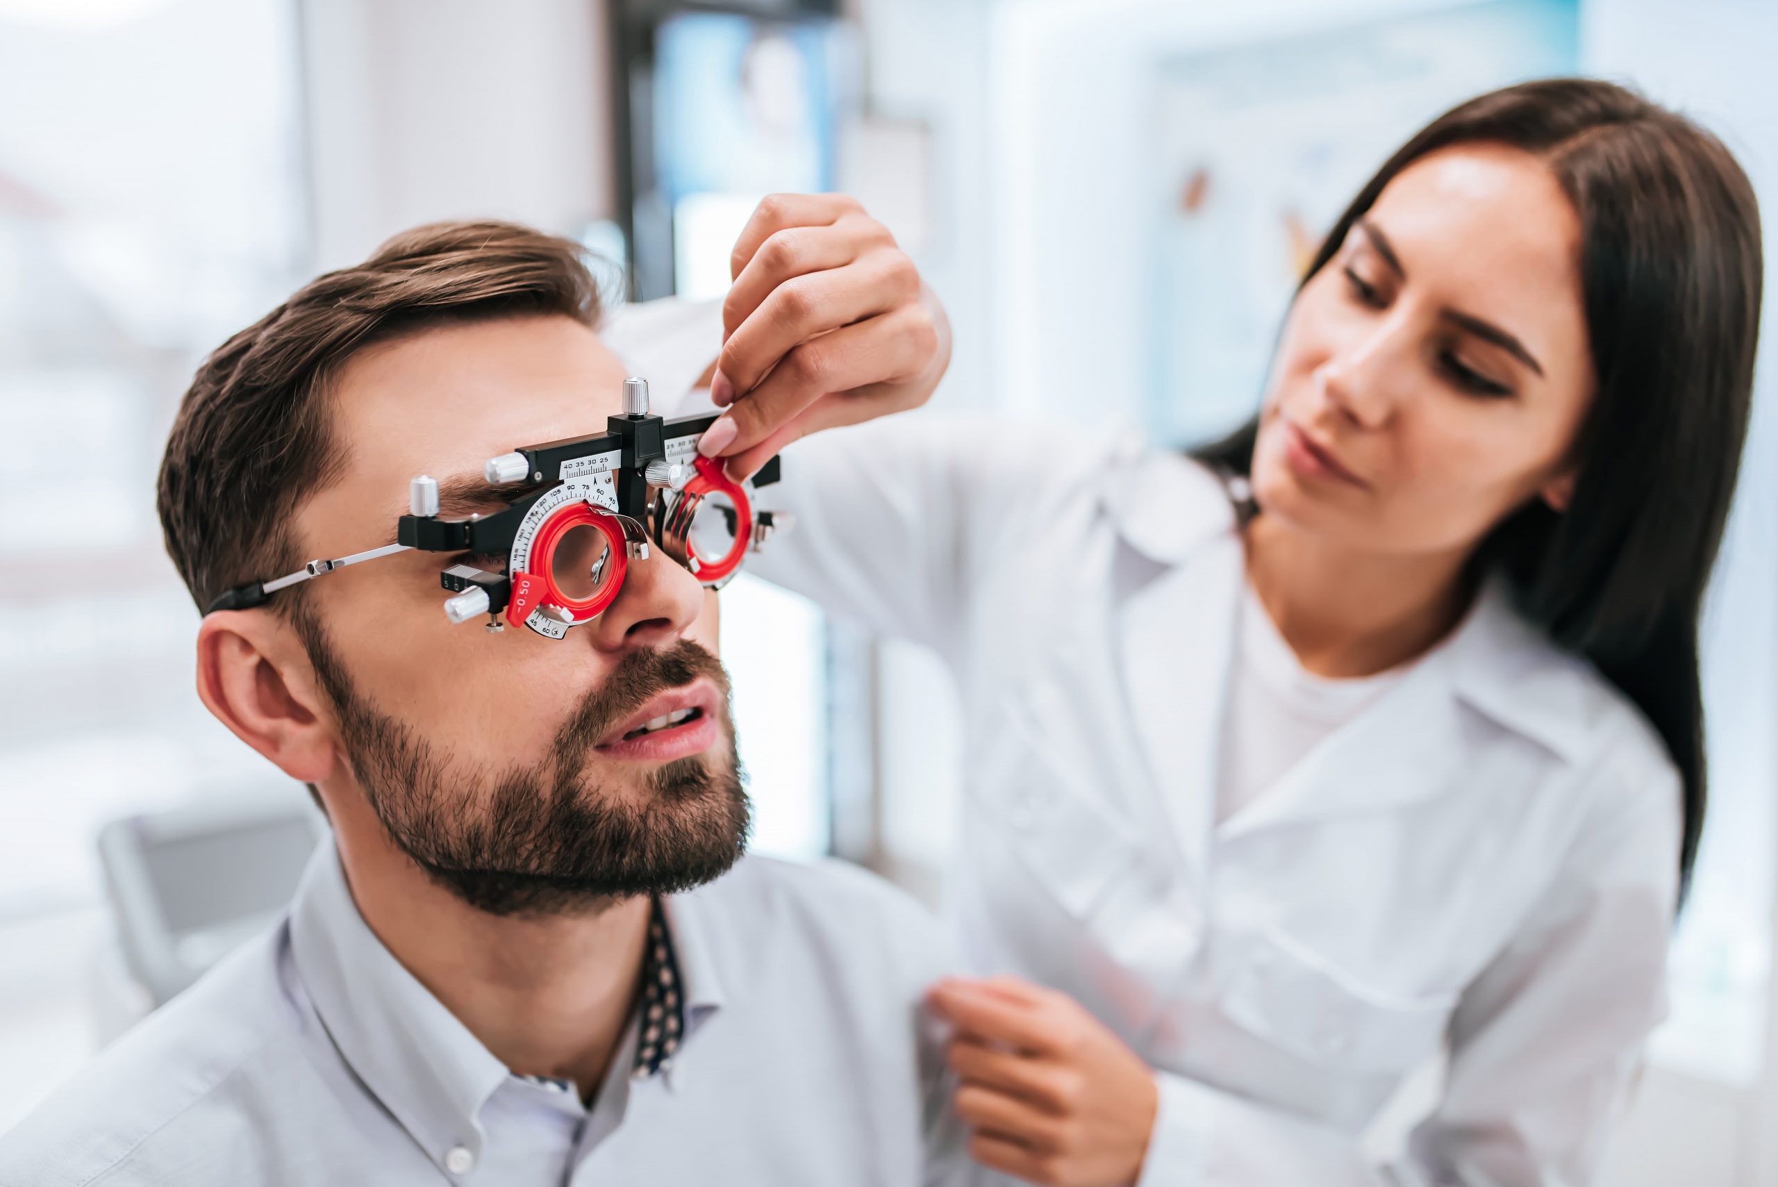
[{"label": "white coat sleeve on the woman's lowered arm, at right", "polygon": [[[1666,1009],[1678,778],[1607,759],[1563,878],[1462,995],[1438,1105],[1390,1162],[1358,1141],[1184,1077],[1157,1073],[1138,1187],[1163,1183],[1577,1187],[1600,1173],[1646,1034]],[[1597,791],[1597,789],[1595,789]]]}]

